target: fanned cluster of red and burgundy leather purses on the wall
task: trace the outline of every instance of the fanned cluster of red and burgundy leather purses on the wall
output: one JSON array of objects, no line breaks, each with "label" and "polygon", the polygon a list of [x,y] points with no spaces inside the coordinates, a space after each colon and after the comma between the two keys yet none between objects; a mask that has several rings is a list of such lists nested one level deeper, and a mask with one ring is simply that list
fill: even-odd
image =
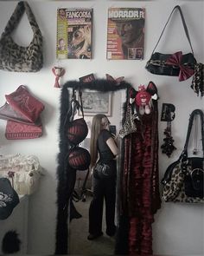
[{"label": "fanned cluster of red and burgundy leather purses on the wall", "polygon": [[8,140],[40,137],[42,135],[40,115],[44,105],[23,85],[5,97],[7,102],[0,108],[0,118],[7,120],[5,137]]}]

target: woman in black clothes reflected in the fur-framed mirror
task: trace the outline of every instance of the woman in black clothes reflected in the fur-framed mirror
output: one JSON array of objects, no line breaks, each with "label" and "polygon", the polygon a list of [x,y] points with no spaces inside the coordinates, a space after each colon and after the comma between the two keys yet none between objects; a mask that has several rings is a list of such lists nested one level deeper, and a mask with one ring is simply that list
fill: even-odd
[{"label": "woman in black clothes reflected in the fur-framed mirror", "polygon": [[94,240],[103,235],[104,200],[106,234],[114,236],[116,233],[116,156],[118,147],[116,137],[111,134],[109,125],[110,121],[106,115],[98,114],[92,118],[90,154],[93,198],[89,208],[88,240]]}]

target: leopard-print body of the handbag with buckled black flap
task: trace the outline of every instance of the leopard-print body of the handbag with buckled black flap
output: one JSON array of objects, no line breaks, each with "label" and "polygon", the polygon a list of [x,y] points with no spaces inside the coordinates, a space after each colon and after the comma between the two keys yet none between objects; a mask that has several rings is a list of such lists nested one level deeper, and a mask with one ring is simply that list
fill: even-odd
[{"label": "leopard-print body of the handbag with buckled black flap", "polygon": [[[182,173],[182,162],[179,161],[173,168],[171,178],[163,186],[163,199],[164,201],[172,202],[186,202],[198,203],[204,202],[200,197],[190,197],[185,194],[184,178],[185,174]],[[190,167],[187,167],[187,172],[190,172]]]}]

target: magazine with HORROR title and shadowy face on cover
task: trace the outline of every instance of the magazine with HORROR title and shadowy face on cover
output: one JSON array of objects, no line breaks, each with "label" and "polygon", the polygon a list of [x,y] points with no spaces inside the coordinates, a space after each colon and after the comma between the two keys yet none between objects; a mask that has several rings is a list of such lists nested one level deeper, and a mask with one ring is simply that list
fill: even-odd
[{"label": "magazine with HORROR title and shadowy face on cover", "polygon": [[107,59],[143,59],[145,9],[109,8]]}]

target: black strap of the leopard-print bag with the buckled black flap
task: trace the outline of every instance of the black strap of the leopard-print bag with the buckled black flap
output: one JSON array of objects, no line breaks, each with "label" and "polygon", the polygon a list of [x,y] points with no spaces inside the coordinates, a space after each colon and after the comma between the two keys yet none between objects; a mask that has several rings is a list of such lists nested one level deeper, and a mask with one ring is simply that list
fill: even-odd
[{"label": "black strap of the leopard-print bag with the buckled black flap", "polygon": [[191,129],[192,129],[193,124],[194,124],[194,117],[196,115],[199,115],[200,119],[201,119],[202,154],[203,154],[203,157],[204,157],[204,114],[203,114],[201,109],[194,109],[194,111],[191,113],[190,118],[189,118],[186,142],[185,142],[182,154],[180,156],[180,159],[183,159],[184,161],[188,158],[188,141],[189,141],[189,138],[190,138]]}]

